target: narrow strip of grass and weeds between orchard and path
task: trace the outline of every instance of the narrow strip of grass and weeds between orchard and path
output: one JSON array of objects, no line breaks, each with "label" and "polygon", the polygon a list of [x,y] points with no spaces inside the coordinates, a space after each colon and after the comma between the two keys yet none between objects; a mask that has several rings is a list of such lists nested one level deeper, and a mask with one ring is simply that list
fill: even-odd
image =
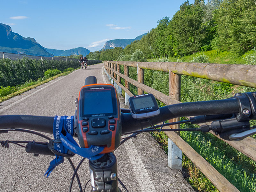
[{"label": "narrow strip of grass and weeds between orchard and path", "polygon": [[[76,70],[76,69],[74,69]],[[30,89],[34,89],[35,87],[39,86],[39,85],[42,85],[44,83],[47,83],[49,81],[52,81],[53,79],[59,77],[59,76],[63,76],[63,75],[68,75],[69,73],[71,73],[72,71],[74,70],[71,70],[71,71],[67,71],[67,72],[64,72],[64,73],[60,73],[56,76],[53,76],[53,77],[50,77],[48,79],[39,79],[37,81],[35,80],[31,80],[29,82],[26,82],[24,84],[21,84],[20,86],[17,86],[17,88],[13,89],[13,92],[6,95],[6,96],[3,96],[3,97],[0,97],[0,103],[5,101],[5,100],[8,100],[8,99],[11,99],[12,97],[16,96],[16,95],[20,95],[21,93],[24,93]]]}]

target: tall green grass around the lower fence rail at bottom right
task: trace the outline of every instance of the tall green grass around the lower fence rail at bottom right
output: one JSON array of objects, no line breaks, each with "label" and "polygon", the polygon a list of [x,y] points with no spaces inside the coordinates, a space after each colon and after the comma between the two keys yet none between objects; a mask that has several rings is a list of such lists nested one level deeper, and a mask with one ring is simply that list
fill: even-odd
[{"label": "tall green grass around the lower fence rail at bottom right", "polygon": [[[190,128],[194,125],[189,125]],[[181,128],[188,128],[182,124]],[[165,133],[151,133],[167,153],[167,136]],[[180,136],[204,159],[206,159],[218,172],[231,182],[241,192],[256,191],[256,163],[230,147],[227,143],[214,137],[210,133],[180,132]],[[225,149],[226,150],[223,150]],[[188,182],[197,191],[218,191],[204,174],[183,154],[182,168],[189,174]]]}]

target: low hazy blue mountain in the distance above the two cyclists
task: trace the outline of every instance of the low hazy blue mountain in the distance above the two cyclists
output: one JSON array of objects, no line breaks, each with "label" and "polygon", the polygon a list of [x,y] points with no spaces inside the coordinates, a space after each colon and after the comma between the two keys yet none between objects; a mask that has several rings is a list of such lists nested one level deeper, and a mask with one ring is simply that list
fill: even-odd
[{"label": "low hazy blue mountain in the distance above the two cyclists", "polygon": [[59,50],[59,49],[47,49],[45,48],[46,51],[49,53],[53,54],[54,56],[70,56],[70,55],[88,55],[90,50],[85,49],[84,47],[77,47],[75,49],[68,49],[66,51],[64,50]]}]

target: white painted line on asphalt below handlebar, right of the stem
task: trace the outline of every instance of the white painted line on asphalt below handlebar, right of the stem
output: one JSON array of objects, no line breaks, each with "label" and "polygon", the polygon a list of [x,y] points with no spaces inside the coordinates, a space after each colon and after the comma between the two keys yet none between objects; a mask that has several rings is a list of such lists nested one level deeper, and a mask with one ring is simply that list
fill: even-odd
[{"label": "white painted line on asphalt below handlebar, right of the stem", "polygon": [[127,140],[124,143],[124,147],[126,148],[127,155],[132,163],[133,171],[136,176],[136,180],[138,181],[140,191],[142,192],[156,192],[153,182],[151,181],[148,172],[143,165],[139,153],[134,146],[132,140]]}]

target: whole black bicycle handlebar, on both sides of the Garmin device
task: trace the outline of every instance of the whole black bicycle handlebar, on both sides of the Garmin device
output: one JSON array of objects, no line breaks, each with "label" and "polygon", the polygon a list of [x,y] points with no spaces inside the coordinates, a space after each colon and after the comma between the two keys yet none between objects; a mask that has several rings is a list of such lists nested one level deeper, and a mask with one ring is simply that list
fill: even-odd
[{"label": "whole black bicycle handlebar, on both sides of the Garmin device", "polygon": [[[238,113],[239,108],[240,104],[236,98],[179,103],[160,107],[160,114],[149,119],[152,124],[158,124],[163,121],[181,116]],[[53,119],[54,117],[49,116],[0,116],[0,129],[24,128],[34,131],[52,133]],[[151,125],[145,119],[134,119],[131,113],[122,113],[121,123],[122,135],[128,132],[138,131]]]}]

